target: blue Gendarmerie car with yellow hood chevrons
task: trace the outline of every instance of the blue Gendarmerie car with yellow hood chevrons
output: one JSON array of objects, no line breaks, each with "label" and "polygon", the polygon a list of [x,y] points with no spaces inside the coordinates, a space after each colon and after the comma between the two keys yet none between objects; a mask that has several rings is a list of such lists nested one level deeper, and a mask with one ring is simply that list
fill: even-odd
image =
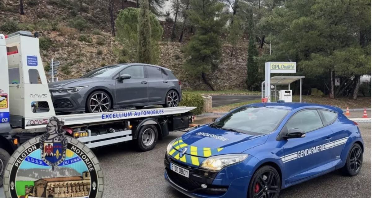
[{"label": "blue Gendarmerie car with yellow hood chevrons", "polygon": [[341,169],[360,172],[363,140],[340,108],[256,103],[173,140],[166,181],[195,198],[276,198],[281,189]]}]

